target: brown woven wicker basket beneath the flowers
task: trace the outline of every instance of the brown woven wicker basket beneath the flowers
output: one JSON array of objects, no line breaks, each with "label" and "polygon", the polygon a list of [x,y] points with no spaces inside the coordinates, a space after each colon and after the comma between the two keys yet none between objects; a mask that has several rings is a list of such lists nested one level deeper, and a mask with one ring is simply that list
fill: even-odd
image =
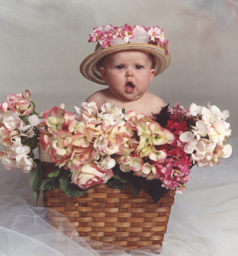
[{"label": "brown woven wicker basket beneath the flowers", "polygon": [[[45,163],[44,175],[54,168],[54,164]],[[59,188],[44,191],[44,205],[67,216],[78,231],[76,236],[128,249],[151,245],[158,248],[162,246],[174,196],[175,192],[169,191],[155,204],[145,189],[134,199],[129,185],[118,190],[100,184],[80,197],[67,197]],[[57,228],[59,219],[54,215],[49,211],[46,218]],[[69,222],[63,224],[66,236],[71,236],[72,231]]]}]

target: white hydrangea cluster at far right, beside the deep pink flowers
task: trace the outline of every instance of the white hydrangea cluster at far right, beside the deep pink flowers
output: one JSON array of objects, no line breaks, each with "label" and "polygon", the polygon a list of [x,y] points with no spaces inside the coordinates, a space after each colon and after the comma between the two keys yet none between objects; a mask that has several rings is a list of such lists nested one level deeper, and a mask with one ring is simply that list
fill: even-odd
[{"label": "white hydrangea cluster at far right, beside the deep pink flowers", "polygon": [[215,166],[221,158],[228,158],[232,153],[226,137],[231,135],[230,123],[226,122],[228,110],[220,111],[216,106],[207,107],[191,104],[190,113],[194,125],[189,131],[180,135],[184,151],[191,154],[191,160],[198,166]]}]

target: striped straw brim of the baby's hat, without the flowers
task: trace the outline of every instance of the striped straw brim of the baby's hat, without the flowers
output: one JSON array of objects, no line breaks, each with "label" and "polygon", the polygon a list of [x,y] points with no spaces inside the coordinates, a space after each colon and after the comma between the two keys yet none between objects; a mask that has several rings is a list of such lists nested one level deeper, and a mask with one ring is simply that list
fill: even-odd
[{"label": "striped straw brim of the baby's hat, without the flowers", "polygon": [[101,78],[100,72],[96,68],[96,64],[103,57],[119,52],[119,51],[147,51],[155,56],[155,76],[159,75],[165,69],[168,68],[171,63],[171,56],[165,52],[165,49],[154,44],[139,44],[139,43],[130,43],[130,44],[120,44],[119,46],[113,46],[108,48],[103,48],[99,51],[96,51],[86,57],[80,65],[81,74],[88,80],[96,82],[97,84],[107,85]]}]

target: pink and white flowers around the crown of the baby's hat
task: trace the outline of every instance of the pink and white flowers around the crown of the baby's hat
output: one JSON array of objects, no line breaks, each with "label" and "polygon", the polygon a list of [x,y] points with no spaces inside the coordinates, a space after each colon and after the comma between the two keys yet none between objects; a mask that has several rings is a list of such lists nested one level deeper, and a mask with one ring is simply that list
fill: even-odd
[{"label": "pink and white flowers around the crown of the baby's hat", "polygon": [[146,28],[138,25],[131,27],[125,24],[125,27],[113,27],[112,25],[94,27],[88,42],[99,42],[103,48],[127,43],[154,44],[163,47],[167,54],[169,53],[164,30],[160,30],[158,26]]}]

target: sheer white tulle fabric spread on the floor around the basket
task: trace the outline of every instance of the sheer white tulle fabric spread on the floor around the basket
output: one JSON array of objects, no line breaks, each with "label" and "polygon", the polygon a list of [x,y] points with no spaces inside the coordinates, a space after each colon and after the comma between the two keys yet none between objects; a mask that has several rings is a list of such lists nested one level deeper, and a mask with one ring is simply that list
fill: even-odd
[{"label": "sheer white tulle fabric spread on the floor around the basket", "polygon": [[[194,168],[188,191],[175,196],[160,255],[238,255],[238,137],[229,143],[230,158]],[[0,168],[0,255],[158,255],[97,251],[80,238],[71,240],[44,221],[48,209],[42,196],[35,207],[29,175]]]}]

